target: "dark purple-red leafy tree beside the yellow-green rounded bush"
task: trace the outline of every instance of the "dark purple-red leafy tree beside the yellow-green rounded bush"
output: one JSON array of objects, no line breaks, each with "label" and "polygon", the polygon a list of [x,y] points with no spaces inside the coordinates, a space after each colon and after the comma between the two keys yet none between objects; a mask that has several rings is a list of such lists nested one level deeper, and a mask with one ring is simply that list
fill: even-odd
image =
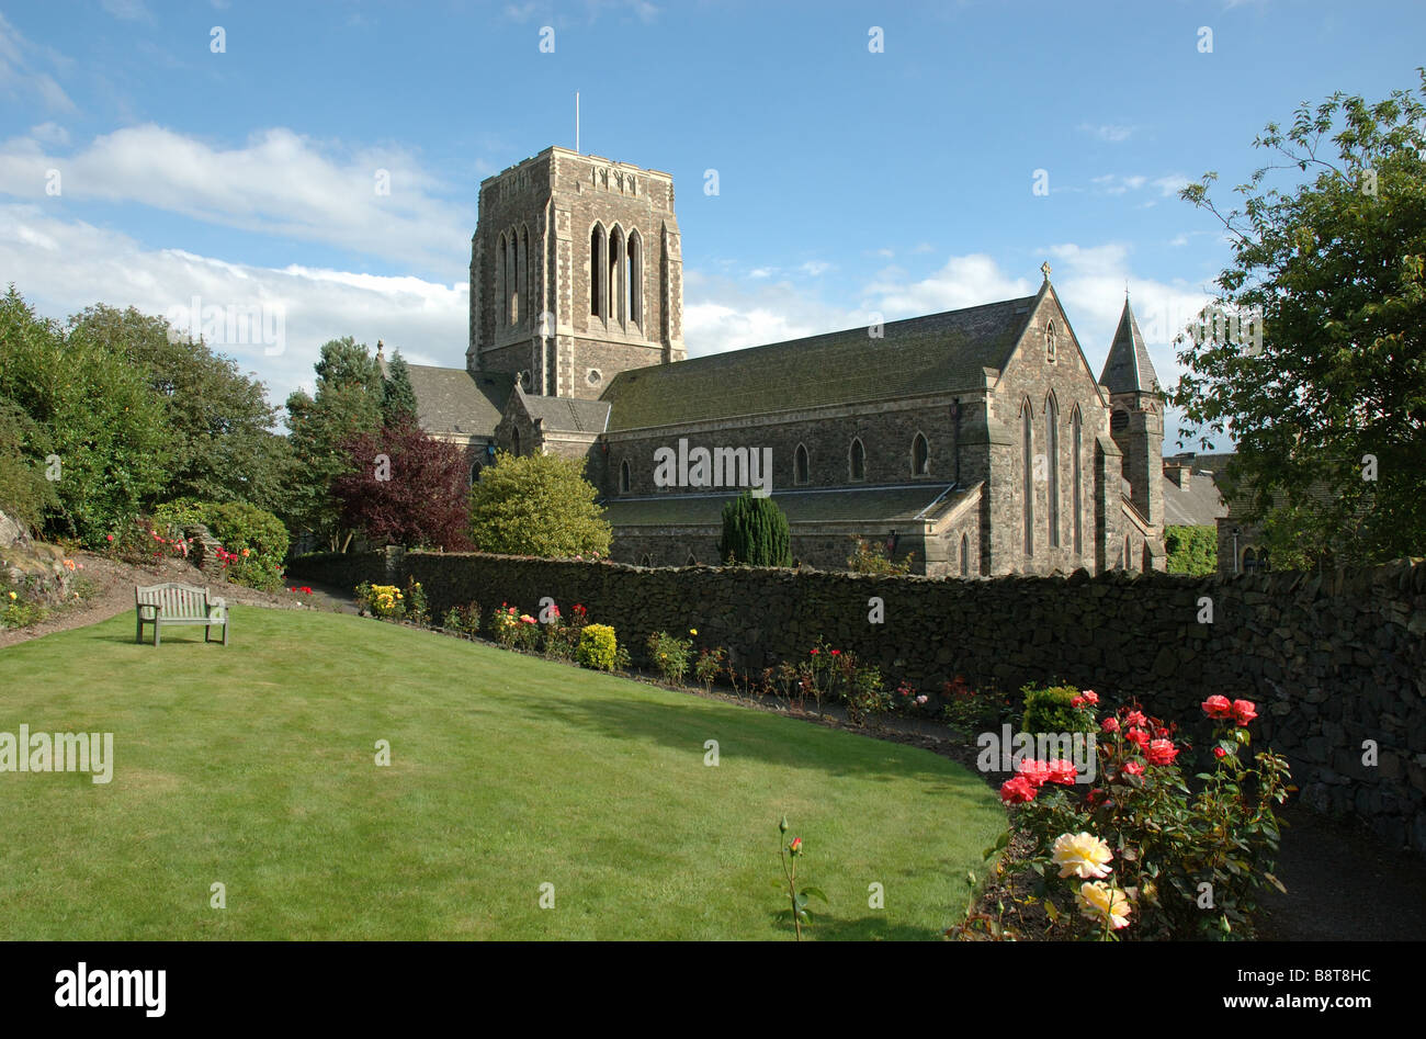
[{"label": "dark purple-red leafy tree beside the yellow-green rounded bush", "polygon": [[376,544],[471,548],[465,452],[411,417],[342,442],[348,471],[332,484],[341,520]]}]

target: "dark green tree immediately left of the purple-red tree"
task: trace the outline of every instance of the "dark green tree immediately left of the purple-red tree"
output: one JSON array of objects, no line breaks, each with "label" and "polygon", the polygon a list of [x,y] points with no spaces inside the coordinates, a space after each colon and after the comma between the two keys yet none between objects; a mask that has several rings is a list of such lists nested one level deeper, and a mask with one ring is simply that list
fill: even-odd
[{"label": "dark green tree immediately left of the purple-red tree", "polygon": [[351,470],[342,444],[381,428],[384,387],[381,365],[365,344],[352,337],[322,345],[315,397],[298,390],[287,398],[287,424],[298,478],[288,525],[327,538],[345,551],[354,531],[341,522],[341,502],[332,487]]}]

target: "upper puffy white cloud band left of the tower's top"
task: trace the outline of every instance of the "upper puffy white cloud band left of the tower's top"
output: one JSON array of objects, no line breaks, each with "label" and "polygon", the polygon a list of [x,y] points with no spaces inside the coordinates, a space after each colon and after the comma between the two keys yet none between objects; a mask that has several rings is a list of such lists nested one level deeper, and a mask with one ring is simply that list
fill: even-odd
[{"label": "upper puffy white cloud band left of the tower's top", "polygon": [[[68,157],[36,138],[0,146],[0,191],[44,197],[44,170],[61,171],[64,197],[138,203],[212,224],[319,241],[456,278],[475,213],[438,196],[445,186],[394,148],[341,156],[287,128],[222,148],[147,124],[97,137]],[[378,194],[378,171],[389,194]]]}]

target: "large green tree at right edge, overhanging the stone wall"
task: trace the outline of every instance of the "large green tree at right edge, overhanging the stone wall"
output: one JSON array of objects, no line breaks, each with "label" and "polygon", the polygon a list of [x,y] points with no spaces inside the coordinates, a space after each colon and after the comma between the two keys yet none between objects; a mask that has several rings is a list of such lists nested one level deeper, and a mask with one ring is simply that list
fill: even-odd
[{"label": "large green tree at right edge, overhanging the stone wall", "polygon": [[[1276,565],[1373,562],[1426,551],[1426,69],[1415,91],[1303,104],[1253,147],[1272,156],[1236,190],[1215,174],[1182,197],[1228,231],[1216,307],[1181,337],[1171,395],[1184,441],[1231,428],[1224,490],[1263,524]],[[1286,173],[1272,186],[1269,176]],[[1251,334],[1252,321],[1261,337]],[[1205,323],[1208,324],[1208,323]],[[1186,344],[1186,345],[1185,345]]]}]

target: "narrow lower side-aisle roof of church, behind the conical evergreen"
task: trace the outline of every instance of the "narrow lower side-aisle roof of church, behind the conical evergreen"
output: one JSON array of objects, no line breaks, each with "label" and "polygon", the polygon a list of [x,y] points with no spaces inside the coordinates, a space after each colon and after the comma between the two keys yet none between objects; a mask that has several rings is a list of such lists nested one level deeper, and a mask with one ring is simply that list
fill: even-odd
[{"label": "narrow lower side-aisle roof of church, behind the conical evergreen", "polygon": [[[948,484],[915,487],[857,487],[827,491],[773,491],[773,501],[787,514],[791,525],[806,522],[903,524],[934,521],[965,498],[978,485],[957,490]],[[726,494],[669,492],[639,498],[607,498],[606,520],[619,527],[717,527],[723,505],[736,498]]]}]

